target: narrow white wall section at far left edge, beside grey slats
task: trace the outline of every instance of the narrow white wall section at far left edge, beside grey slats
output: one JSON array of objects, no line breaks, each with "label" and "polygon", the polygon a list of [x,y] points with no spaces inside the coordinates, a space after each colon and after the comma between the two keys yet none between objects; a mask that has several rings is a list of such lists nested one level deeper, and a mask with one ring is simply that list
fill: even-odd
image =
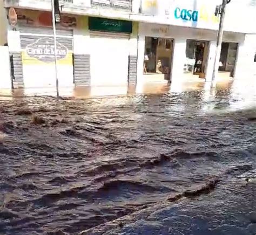
[{"label": "narrow white wall section at far left edge, beside grey slats", "polygon": [[0,46],[0,88],[11,88],[10,58],[8,46]]}]

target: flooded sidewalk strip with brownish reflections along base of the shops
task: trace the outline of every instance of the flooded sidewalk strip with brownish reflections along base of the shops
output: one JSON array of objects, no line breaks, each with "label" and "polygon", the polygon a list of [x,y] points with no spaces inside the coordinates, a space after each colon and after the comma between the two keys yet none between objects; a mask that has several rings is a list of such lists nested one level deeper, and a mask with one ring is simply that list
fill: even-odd
[{"label": "flooded sidewalk strip with brownish reflections along base of the shops", "polygon": [[[216,88],[230,87],[233,83],[230,79],[218,81]],[[137,86],[104,86],[104,87],[60,87],[59,94],[64,97],[86,99],[90,97],[135,95],[135,94],[157,94],[165,92],[186,92],[198,89],[210,89],[211,82],[204,79],[188,80],[169,84],[162,82],[145,82]],[[21,98],[30,96],[56,96],[56,88],[24,88],[24,89],[0,89],[0,99]]]}]

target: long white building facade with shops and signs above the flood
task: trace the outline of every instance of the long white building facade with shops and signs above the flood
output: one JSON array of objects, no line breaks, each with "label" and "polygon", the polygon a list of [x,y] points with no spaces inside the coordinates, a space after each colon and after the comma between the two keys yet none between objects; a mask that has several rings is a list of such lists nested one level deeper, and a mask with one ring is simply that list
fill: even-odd
[{"label": "long white building facade with shops and signs above the flood", "polygon": [[[192,73],[210,81],[220,0],[60,0],[59,85],[142,84],[150,75],[177,81]],[[209,3],[210,2],[210,3]],[[17,13],[6,32],[14,88],[55,86],[50,0],[5,0]],[[255,72],[256,4],[227,6],[220,70]]]}]

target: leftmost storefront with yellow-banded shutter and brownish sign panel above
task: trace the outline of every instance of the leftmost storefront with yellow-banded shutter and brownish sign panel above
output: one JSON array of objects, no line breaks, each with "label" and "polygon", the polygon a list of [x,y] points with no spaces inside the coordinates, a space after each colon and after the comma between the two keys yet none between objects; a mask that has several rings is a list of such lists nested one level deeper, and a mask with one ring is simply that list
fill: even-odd
[{"label": "leftmost storefront with yellow-banded shutter and brownish sign panel above", "polygon": [[[17,18],[16,42],[9,40],[14,87],[55,86],[51,12],[17,10]],[[73,28],[76,26],[77,18],[69,15],[63,15],[62,23],[57,25],[57,74],[62,87],[74,84]],[[19,50],[12,50],[13,44],[18,44]]]}]

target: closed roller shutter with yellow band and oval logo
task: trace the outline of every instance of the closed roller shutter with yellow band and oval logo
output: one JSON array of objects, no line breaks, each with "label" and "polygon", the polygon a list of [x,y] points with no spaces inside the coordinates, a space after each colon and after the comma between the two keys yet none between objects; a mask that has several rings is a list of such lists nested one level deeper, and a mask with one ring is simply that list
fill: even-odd
[{"label": "closed roller shutter with yellow band and oval logo", "polygon": [[[24,87],[55,86],[53,32],[49,27],[20,29]],[[57,72],[60,86],[73,85],[73,31],[58,29]],[[36,75],[35,75],[36,74]]]}]

